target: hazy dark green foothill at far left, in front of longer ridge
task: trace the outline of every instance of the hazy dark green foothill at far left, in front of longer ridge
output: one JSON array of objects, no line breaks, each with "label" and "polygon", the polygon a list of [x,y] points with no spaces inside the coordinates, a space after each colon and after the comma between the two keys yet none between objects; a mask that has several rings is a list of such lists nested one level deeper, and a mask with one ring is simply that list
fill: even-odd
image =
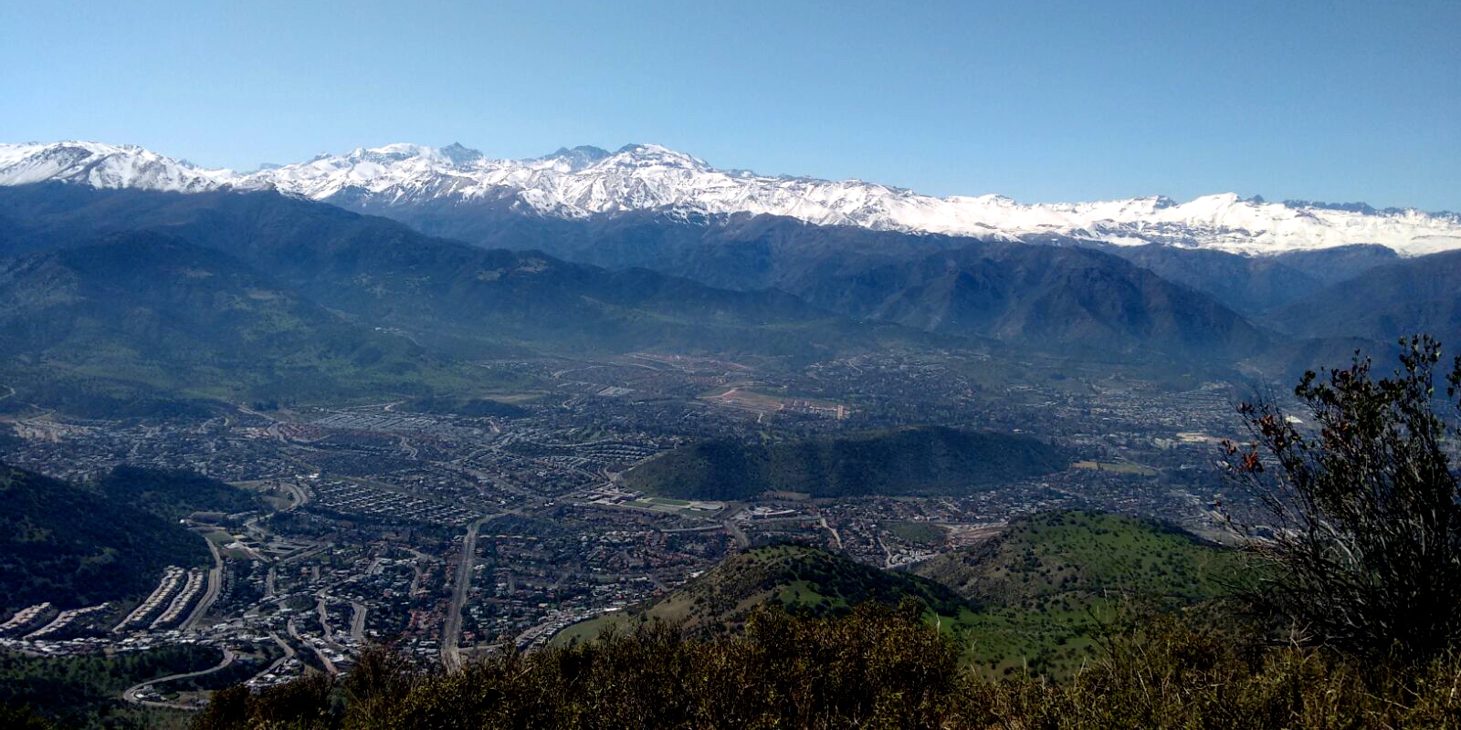
[{"label": "hazy dark green foothill at far left, in front of longer ridge", "polygon": [[158,234],[0,261],[0,339],[18,402],[104,416],[155,415],[148,394],[288,402],[465,383],[402,337]]}]

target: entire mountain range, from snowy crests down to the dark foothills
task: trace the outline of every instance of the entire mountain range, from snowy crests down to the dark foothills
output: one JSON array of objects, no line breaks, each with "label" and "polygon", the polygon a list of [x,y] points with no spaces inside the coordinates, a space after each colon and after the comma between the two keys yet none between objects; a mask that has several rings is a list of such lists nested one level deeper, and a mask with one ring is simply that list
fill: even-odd
[{"label": "entire mountain range, from snowy crests down to the dark foothills", "polygon": [[[1416,331],[1461,342],[1461,250],[1419,256],[1461,245],[1449,213],[1237,201],[1303,222],[1229,245],[1235,229],[1176,239],[1156,219],[1132,223],[1141,239],[1105,223],[925,232],[888,200],[945,203],[653,146],[389,146],[237,174],[0,145],[0,377],[22,391],[6,407],[469,402],[491,390],[473,359],[646,349],[1037,352],[1290,380]],[[1100,207],[1118,209],[1132,210]]]}]

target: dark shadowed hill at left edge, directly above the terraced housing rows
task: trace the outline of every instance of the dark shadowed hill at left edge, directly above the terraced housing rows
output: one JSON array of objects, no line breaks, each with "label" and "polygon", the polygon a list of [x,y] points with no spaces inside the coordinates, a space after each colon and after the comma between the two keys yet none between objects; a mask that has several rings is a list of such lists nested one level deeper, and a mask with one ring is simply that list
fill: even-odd
[{"label": "dark shadowed hill at left edge, directly above the terraced housing rows", "polygon": [[0,464],[0,612],[41,602],[92,606],[150,591],[168,565],[205,565],[207,545],[177,520]]}]

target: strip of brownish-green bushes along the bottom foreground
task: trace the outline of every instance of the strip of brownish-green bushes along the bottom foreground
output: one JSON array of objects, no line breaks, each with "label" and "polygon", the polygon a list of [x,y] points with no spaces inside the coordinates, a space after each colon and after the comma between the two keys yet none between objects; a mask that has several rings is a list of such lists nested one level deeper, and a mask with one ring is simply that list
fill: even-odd
[{"label": "strip of brownish-green bushes along the bottom foreground", "polygon": [[920,607],[758,612],[742,637],[647,623],[574,648],[419,673],[383,650],[324,676],[219,692],[210,729],[1461,727],[1461,660],[1367,663],[1153,619],[1074,679],[989,680]]}]

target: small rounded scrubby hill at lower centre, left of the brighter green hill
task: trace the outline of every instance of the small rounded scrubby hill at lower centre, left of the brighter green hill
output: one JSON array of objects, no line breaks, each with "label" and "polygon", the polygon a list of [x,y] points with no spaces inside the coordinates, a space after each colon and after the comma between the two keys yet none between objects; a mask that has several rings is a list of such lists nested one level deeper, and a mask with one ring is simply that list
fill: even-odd
[{"label": "small rounded scrubby hill at lower centre, left of the brighter green hill", "polygon": [[976,610],[950,588],[918,575],[882,571],[817,548],[768,545],[726,558],[649,607],[570,626],[555,641],[581,641],[611,625],[656,619],[687,632],[722,634],[738,629],[763,604],[793,616],[824,618],[847,615],[866,602],[896,606],[904,597],[923,602],[925,618],[950,634]]}]

